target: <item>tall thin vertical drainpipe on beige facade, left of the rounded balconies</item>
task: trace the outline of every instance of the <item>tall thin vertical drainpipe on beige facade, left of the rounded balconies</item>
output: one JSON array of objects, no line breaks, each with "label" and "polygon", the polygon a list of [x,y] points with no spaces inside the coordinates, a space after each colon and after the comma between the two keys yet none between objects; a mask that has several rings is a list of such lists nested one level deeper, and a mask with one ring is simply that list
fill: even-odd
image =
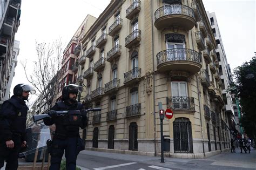
[{"label": "tall thin vertical drainpipe on beige facade, left of the rounded balconies", "polygon": [[152,38],[152,64],[153,64],[153,115],[154,115],[154,156],[157,156],[157,125],[156,125],[156,88],[155,88],[155,76],[154,76],[154,30],[153,30],[153,1],[151,0],[151,38]]}]

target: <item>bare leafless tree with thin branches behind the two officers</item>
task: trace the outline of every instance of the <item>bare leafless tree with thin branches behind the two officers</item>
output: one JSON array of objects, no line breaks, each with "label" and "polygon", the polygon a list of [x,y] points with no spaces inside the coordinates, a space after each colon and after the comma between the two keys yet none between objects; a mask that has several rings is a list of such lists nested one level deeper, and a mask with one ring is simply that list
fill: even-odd
[{"label": "bare leafless tree with thin branches behind the two officers", "polygon": [[57,39],[52,43],[38,43],[36,41],[37,58],[33,62],[33,72],[27,72],[27,62],[22,62],[26,79],[39,92],[39,100],[46,100],[48,108],[51,107],[51,99],[55,96],[58,87],[62,62],[62,41]]}]

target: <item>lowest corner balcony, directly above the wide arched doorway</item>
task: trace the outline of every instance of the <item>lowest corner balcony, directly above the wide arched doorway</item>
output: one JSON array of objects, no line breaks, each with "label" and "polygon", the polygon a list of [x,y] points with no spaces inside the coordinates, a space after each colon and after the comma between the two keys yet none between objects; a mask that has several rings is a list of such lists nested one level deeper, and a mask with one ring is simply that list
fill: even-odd
[{"label": "lowest corner balcony, directly above the wide arched doorway", "polygon": [[194,98],[186,96],[167,97],[167,107],[171,108],[175,113],[194,114]]}]

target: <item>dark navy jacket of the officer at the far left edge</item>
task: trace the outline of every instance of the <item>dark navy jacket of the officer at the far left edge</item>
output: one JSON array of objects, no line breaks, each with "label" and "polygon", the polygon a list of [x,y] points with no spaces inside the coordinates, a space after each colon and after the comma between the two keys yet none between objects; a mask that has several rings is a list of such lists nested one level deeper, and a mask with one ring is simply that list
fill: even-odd
[{"label": "dark navy jacket of the officer at the far left edge", "polygon": [[0,111],[0,140],[11,140],[13,135],[26,140],[26,114],[28,106],[23,99],[12,96],[4,101]]}]

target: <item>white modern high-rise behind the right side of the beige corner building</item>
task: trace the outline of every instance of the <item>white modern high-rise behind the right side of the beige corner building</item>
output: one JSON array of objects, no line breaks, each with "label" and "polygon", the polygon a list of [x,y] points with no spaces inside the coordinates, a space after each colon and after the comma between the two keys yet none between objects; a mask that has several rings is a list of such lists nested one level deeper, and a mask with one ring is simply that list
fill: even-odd
[{"label": "white modern high-rise behind the right side of the beige corner building", "polygon": [[228,86],[230,86],[230,84],[233,83],[232,71],[230,69],[230,65],[227,62],[226,53],[224,50],[223,41],[221,39],[220,30],[219,30],[215,12],[209,13],[207,11],[207,16],[211,23],[212,32],[215,38],[214,40],[217,44],[217,48],[215,49],[215,51],[216,51],[218,60],[216,60],[215,62],[216,64],[219,63],[218,71],[221,78],[221,89],[222,89],[221,92],[223,94],[223,99],[225,103],[225,112],[224,112],[223,119],[225,120],[226,123],[228,123],[231,129],[232,128],[235,129],[236,121],[234,118],[234,108],[233,108],[235,101],[232,100],[231,94],[226,92]]}]

